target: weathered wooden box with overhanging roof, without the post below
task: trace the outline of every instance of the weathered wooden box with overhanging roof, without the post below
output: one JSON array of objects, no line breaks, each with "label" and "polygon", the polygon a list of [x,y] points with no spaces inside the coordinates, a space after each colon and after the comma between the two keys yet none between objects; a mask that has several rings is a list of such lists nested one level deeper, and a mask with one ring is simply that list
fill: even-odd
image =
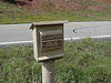
[{"label": "weathered wooden box with overhanging roof, without the post below", "polygon": [[67,21],[47,21],[32,23],[34,59],[41,62],[63,58],[63,23]]}]

